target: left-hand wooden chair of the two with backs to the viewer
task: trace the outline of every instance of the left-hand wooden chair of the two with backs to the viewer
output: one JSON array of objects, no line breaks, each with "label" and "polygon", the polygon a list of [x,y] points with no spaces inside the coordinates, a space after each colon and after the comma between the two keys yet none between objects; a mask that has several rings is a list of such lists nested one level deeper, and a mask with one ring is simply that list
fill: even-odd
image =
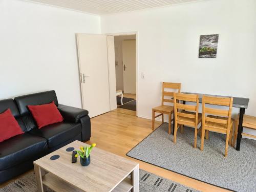
[{"label": "left-hand wooden chair of the two with backs to the viewer", "polygon": [[[197,147],[197,129],[202,123],[202,114],[198,113],[199,96],[197,94],[174,93],[174,143],[177,139],[177,131],[179,127],[189,126],[195,128],[194,147]],[[195,102],[196,105],[181,104],[180,101]],[[182,131],[183,132],[183,131]]]}]

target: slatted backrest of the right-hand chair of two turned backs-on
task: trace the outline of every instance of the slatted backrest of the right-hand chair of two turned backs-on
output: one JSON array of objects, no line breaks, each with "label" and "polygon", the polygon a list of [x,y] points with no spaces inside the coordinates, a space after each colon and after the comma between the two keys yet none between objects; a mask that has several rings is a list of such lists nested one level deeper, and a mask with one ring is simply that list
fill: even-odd
[{"label": "slatted backrest of the right-hand chair of two turned backs-on", "polygon": [[[228,106],[229,109],[223,110],[223,109],[210,108],[208,106],[205,107],[205,104]],[[202,99],[203,126],[206,121],[213,122],[213,123],[219,123],[219,124],[223,124],[223,126],[226,126],[227,131],[229,131],[230,122],[231,122],[232,105],[233,105],[232,97],[212,97],[212,96],[203,95],[203,99]],[[211,117],[207,117],[207,114],[219,116],[219,117],[227,117],[227,119],[211,118]]]}]

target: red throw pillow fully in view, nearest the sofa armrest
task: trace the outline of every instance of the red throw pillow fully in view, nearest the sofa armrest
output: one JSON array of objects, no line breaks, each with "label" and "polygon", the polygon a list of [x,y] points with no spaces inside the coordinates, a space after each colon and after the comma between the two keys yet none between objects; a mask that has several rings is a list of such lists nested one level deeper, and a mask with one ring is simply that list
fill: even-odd
[{"label": "red throw pillow fully in view, nearest the sofa armrest", "polygon": [[49,104],[28,105],[28,108],[37,123],[38,129],[49,124],[63,121],[63,117],[59,113],[54,101]]}]

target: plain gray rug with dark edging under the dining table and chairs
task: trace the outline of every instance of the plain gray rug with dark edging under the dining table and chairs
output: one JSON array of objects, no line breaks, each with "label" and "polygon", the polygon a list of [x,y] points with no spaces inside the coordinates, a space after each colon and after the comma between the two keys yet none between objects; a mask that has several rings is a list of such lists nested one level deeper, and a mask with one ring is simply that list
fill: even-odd
[{"label": "plain gray rug with dark edging under the dining table and chairs", "polygon": [[235,191],[256,191],[256,140],[241,140],[241,149],[228,147],[224,157],[225,135],[209,133],[200,151],[201,138],[194,148],[194,129],[184,127],[184,134],[168,135],[168,123],[135,146],[127,156],[172,170],[212,185]]}]

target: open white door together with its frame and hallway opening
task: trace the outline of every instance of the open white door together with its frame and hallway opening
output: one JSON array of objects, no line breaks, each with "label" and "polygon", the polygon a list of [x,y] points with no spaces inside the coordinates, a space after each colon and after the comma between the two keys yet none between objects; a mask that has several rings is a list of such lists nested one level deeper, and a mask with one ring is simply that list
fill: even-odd
[{"label": "open white door together with its frame and hallway opening", "polygon": [[[116,46],[117,49],[115,49],[115,36],[122,36],[120,37],[122,38],[121,47]],[[91,118],[110,111],[122,111],[122,113],[137,116],[137,32],[128,34],[77,33],[76,40],[82,108],[89,111]],[[119,58],[118,52],[122,54],[121,58]],[[123,62],[125,62],[125,66]],[[118,72],[120,67],[122,74]],[[122,75],[121,80],[119,74]],[[133,83],[131,83],[132,81]],[[128,82],[128,86],[124,82]],[[133,86],[129,87],[129,83]],[[117,92],[117,88],[121,91]],[[124,102],[118,104],[118,108],[117,94],[124,95],[122,99]],[[126,99],[130,100],[127,102]],[[125,109],[127,104],[133,105],[135,110]]]}]

